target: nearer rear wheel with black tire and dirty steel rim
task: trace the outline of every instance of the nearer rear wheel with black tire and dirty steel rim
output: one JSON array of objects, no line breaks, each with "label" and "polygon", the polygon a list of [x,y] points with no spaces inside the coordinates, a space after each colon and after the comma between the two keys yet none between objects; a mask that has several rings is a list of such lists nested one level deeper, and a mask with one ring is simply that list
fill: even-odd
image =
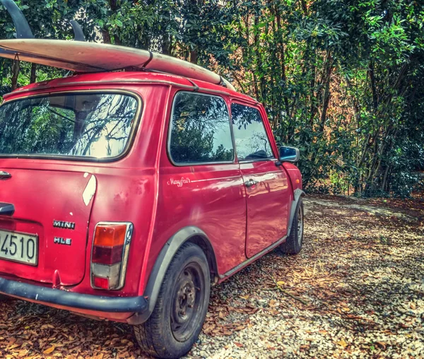
[{"label": "nearer rear wheel with black tire and dirty steel rim", "polygon": [[182,245],[167,269],[147,322],[134,326],[141,350],[156,358],[180,358],[197,340],[208,311],[211,278],[204,252]]}]

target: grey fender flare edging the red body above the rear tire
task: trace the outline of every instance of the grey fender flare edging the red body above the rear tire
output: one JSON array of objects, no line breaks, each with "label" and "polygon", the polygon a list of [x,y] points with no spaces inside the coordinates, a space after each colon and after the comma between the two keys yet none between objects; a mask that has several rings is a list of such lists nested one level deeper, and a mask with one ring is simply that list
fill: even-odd
[{"label": "grey fender flare edging the red body above the rear tire", "polygon": [[[144,312],[135,313],[132,317],[130,317],[127,321],[129,324],[141,324],[146,322],[148,317],[151,316],[151,313],[155,309],[156,300],[158,300],[160,287],[162,286],[163,279],[165,278],[166,271],[170,266],[172,259],[177,253],[179,247],[184,245],[185,242],[189,242],[194,237],[201,237],[202,242],[207,241],[209,244],[208,249],[213,251],[213,247],[206,233],[195,226],[184,227],[175,233],[175,235],[172,235],[172,237],[167,240],[163,248],[160,250],[143,293],[143,297],[148,300],[148,308]],[[215,260],[215,258],[213,258],[213,260]]]}]

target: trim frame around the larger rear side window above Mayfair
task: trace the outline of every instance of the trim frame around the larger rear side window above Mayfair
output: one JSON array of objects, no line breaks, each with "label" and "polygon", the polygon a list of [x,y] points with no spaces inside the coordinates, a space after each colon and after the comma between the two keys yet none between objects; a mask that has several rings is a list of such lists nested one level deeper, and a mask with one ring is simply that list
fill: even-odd
[{"label": "trim frame around the larger rear side window above Mayfair", "polygon": [[[190,93],[192,95],[202,95],[202,96],[208,96],[211,98],[220,98],[223,100],[225,107],[227,108],[228,112],[228,124],[230,126],[230,134],[231,134],[231,143],[232,143],[232,160],[231,161],[210,161],[210,162],[187,162],[187,163],[176,163],[175,160],[172,158],[171,155],[171,133],[172,133],[172,116],[174,115],[174,105],[175,105],[175,98],[177,98],[177,95],[179,93]],[[166,152],[167,157],[170,160],[170,163],[175,167],[187,167],[187,166],[204,166],[204,165],[232,165],[235,164],[237,160],[237,156],[235,155],[235,142],[234,142],[234,136],[232,134],[232,124],[231,124],[231,112],[228,108],[227,101],[220,96],[220,95],[211,95],[210,93],[201,93],[199,91],[189,91],[189,90],[178,90],[175,92],[174,97],[172,98],[172,110],[169,117],[169,123],[168,123],[168,129],[167,129],[167,141],[166,141]]]}]

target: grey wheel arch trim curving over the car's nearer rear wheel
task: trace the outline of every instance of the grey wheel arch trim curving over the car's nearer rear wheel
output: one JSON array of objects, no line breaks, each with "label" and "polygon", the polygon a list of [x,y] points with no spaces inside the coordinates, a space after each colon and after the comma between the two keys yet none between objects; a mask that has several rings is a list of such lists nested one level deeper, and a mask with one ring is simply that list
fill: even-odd
[{"label": "grey wheel arch trim curving over the car's nearer rear wheel", "polygon": [[184,227],[175,235],[172,235],[160,250],[158,258],[153,265],[153,269],[148,278],[143,296],[148,299],[148,309],[143,313],[136,313],[129,318],[129,324],[141,324],[146,322],[155,308],[156,300],[158,299],[160,287],[162,286],[165,273],[171,264],[172,259],[177,253],[179,247],[184,243],[194,243],[198,245],[206,254],[208,259],[209,271],[211,273],[211,283],[215,284],[218,281],[218,264],[216,263],[215,251],[211,241],[206,233],[195,226]]}]

